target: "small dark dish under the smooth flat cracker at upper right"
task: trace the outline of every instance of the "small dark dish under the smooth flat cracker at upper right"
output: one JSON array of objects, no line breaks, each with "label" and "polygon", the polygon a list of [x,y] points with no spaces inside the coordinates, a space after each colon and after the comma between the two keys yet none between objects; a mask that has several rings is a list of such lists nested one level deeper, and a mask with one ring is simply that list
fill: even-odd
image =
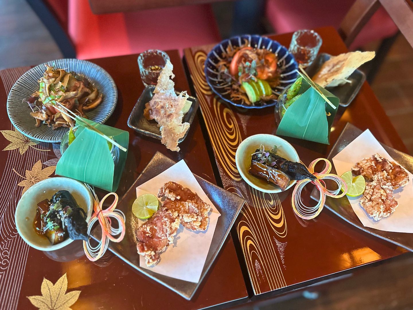
[{"label": "small dark dish under the smooth flat cracker at upper right", "polygon": [[[314,60],[314,62],[311,64],[311,66],[306,69],[307,74],[310,77],[313,77],[314,74],[316,74],[321,68],[323,63],[329,60],[330,57],[330,54],[320,53],[317,56],[316,60]],[[339,98],[340,105],[342,107],[347,107],[351,103],[351,101],[353,101],[354,97],[356,97],[364,81],[366,81],[366,74],[356,69],[348,77],[348,79],[351,81],[351,83],[345,83],[344,85],[326,88],[330,93]]]}]

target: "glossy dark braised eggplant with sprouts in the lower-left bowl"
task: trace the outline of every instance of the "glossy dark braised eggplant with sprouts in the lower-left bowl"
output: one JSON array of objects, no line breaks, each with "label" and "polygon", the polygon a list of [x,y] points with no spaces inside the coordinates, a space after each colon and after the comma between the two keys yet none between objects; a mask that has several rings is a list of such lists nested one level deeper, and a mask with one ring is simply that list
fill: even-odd
[{"label": "glossy dark braised eggplant with sprouts in the lower-left bowl", "polygon": [[38,234],[57,244],[66,238],[88,240],[85,211],[78,206],[69,191],[58,191],[49,200],[37,204],[33,225]]}]

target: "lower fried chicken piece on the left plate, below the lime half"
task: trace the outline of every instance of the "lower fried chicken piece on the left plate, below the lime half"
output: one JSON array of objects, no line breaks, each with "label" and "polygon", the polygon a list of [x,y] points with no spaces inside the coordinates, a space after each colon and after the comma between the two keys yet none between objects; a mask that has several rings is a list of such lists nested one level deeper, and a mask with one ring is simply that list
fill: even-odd
[{"label": "lower fried chicken piece on the left plate, below the lime half", "polygon": [[173,243],[179,227],[179,215],[174,210],[162,207],[136,231],[138,254],[145,257],[147,266],[154,266],[161,260],[160,253]]}]

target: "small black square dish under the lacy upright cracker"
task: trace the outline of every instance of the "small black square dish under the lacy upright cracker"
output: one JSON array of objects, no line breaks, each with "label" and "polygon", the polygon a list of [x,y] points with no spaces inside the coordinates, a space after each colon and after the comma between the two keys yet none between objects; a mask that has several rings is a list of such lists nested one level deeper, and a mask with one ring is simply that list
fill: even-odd
[{"label": "small black square dish under the lacy upright cracker", "polygon": [[[154,120],[148,121],[144,116],[143,116],[143,110],[145,110],[145,104],[148,103],[153,95],[153,92],[155,90],[155,86],[149,85],[146,86],[145,89],[142,92],[142,95],[140,95],[138,101],[135,104],[135,107],[133,107],[133,110],[131,112],[131,115],[129,115],[128,118],[128,126],[131,127],[132,129],[135,129],[136,131],[140,132],[141,134],[156,138],[161,140],[161,131],[159,131],[159,127],[157,122]],[[177,95],[179,95],[179,92],[175,92]],[[194,120],[195,114],[197,113],[198,107],[199,107],[199,102],[197,98],[189,96],[188,99],[189,101],[192,102],[192,105],[188,111],[183,117],[183,122],[187,122],[189,124],[192,124],[192,121]],[[188,130],[189,131],[189,130]],[[185,136],[180,138],[178,142],[184,141],[186,138],[188,131],[186,131]]]}]

